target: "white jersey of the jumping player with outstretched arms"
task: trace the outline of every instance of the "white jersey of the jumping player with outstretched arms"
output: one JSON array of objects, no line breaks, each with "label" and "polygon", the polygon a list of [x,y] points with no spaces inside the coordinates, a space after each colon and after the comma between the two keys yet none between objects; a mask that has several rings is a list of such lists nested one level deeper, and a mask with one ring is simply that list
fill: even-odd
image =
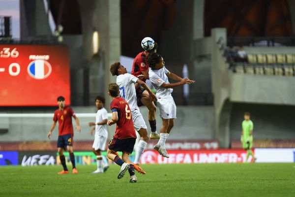
[{"label": "white jersey of the jumping player with outstretched arms", "polygon": [[172,88],[163,88],[161,85],[165,83],[170,83],[168,80],[168,77],[166,73],[168,73],[169,70],[164,66],[161,69],[158,70],[152,70],[149,69],[148,71],[148,77],[151,82],[151,84],[155,87],[157,94],[156,96],[159,98],[166,97],[170,95],[173,92]]}]

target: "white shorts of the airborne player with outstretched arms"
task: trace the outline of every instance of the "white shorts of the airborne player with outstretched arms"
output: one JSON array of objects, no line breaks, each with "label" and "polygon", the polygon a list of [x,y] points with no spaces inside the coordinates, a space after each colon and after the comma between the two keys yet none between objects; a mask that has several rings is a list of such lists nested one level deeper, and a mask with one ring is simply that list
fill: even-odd
[{"label": "white shorts of the airborne player with outstretched arms", "polygon": [[160,116],[164,119],[176,118],[176,104],[171,95],[160,97],[157,100],[158,107],[160,108]]}]

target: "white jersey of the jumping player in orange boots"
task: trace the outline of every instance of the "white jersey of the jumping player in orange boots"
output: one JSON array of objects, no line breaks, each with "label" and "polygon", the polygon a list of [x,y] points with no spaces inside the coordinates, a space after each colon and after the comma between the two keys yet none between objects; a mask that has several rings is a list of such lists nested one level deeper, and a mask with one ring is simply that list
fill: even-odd
[{"label": "white jersey of the jumping player in orange boots", "polygon": [[137,98],[134,84],[137,82],[138,78],[132,74],[125,73],[117,76],[117,84],[120,87],[120,97],[125,99],[131,111],[138,109]]}]

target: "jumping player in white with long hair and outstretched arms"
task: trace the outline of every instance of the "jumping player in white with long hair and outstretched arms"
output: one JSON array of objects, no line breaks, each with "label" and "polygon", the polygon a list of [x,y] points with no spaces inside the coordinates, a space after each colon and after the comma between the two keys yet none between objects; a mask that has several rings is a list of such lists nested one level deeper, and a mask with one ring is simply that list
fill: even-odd
[{"label": "jumping player in white with long hair and outstretched arms", "polygon": [[[157,150],[163,157],[169,158],[165,148],[165,142],[174,126],[174,119],[176,118],[176,105],[173,97],[171,96],[173,91],[172,88],[184,84],[192,84],[195,83],[195,81],[188,78],[182,79],[176,74],[169,72],[169,70],[165,67],[163,58],[157,53],[148,54],[146,62],[151,68],[148,71],[148,76],[151,84],[157,91],[157,106],[160,108],[160,116],[162,118],[160,139],[154,146],[154,149]],[[177,80],[178,82],[169,83],[168,78]]]}]

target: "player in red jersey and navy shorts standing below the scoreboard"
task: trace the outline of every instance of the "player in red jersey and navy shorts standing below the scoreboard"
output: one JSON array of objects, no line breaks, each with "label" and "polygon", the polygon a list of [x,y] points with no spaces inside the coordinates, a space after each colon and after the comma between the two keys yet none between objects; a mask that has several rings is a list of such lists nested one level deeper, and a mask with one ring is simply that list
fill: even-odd
[{"label": "player in red jersey and navy shorts standing below the scoreboard", "polygon": [[65,164],[65,157],[63,155],[63,150],[67,150],[70,154],[70,160],[73,165],[73,174],[77,174],[78,171],[75,165],[75,156],[73,153],[73,124],[72,124],[72,117],[75,119],[76,122],[76,129],[77,131],[81,131],[79,119],[76,117],[74,111],[70,107],[64,106],[64,98],[62,96],[58,97],[58,105],[59,109],[54,112],[53,117],[53,124],[47,134],[47,137],[50,138],[52,131],[57,125],[59,121],[59,138],[58,138],[58,152],[59,152],[59,159],[63,166],[63,170],[60,171],[58,174],[67,174],[69,173],[66,164]]}]

